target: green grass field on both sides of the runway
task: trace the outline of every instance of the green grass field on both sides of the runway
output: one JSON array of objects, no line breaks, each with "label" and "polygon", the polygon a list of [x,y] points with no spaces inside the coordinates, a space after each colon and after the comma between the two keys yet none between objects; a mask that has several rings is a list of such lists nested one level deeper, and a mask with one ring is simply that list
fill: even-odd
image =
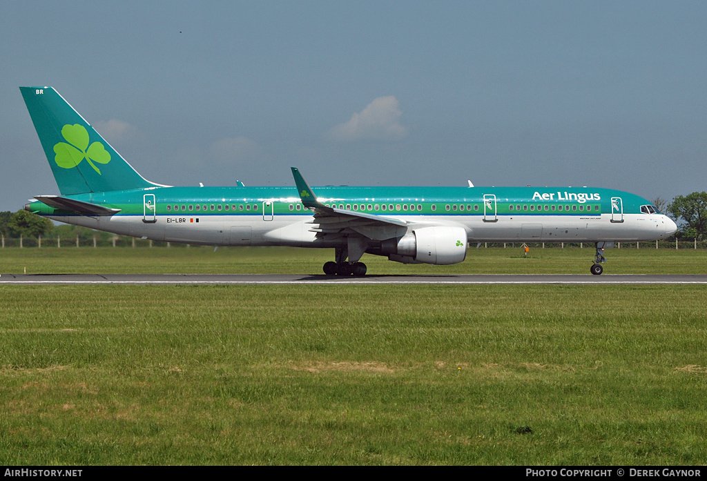
[{"label": "green grass field on both sides of the runway", "polygon": [[[0,271],[318,273],[329,256],[19,250],[0,251]],[[469,251],[449,271],[388,264],[583,273],[592,254],[538,251]],[[703,251],[609,255],[606,272],[705,266]],[[705,293],[3,285],[0,463],[702,465]]]}]

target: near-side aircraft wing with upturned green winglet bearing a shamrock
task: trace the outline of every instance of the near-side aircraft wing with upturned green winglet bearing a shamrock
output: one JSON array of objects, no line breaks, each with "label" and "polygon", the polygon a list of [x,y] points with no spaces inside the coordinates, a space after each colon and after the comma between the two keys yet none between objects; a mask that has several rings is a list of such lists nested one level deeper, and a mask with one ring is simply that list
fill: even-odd
[{"label": "near-side aircraft wing with upturned green winglet bearing a shamrock", "polygon": [[399,237],[407,232],[409,225],[404,220],[373,215],[356,210],[346,210],[327,207],[321,203],[314,191],[305,181],[300,171],[292,167],[297,191],[305,208],[314,212],[314,219],[310,231],[317,232],[317,237],[344,237],[353,232],[358,232],[374,240],[385,240]]}]

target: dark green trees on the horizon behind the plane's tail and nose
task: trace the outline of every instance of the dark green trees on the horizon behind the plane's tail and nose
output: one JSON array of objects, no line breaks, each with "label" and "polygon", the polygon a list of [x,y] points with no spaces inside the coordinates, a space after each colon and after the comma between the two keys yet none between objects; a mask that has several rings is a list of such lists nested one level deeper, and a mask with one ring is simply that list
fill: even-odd
[{"label": "dark green trees on the horizon behind the plane's tail and nose", "polygon": [[[675,196],[671,203],[663,198],[653,200],[660,212],[677,222],[677,239],[707,239],[707,192],[693,192],[686,196]],[[76,225],[54,225],[39,215],[18,210],[15,213],[5,210],[0,212],[0,234],[5,237],[76,237],[88,239],[98,234],[100,237],[112,237],[107,232],[95,232]]]}]

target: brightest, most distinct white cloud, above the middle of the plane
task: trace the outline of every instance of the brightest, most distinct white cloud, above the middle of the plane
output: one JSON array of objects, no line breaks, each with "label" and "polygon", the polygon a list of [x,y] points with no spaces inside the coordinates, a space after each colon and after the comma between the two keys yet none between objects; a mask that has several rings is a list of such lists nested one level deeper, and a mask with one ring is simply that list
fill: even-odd
[{"label": "brightest, most distinct white cloud, above the middle of the plane", "polygon": [[352,115],[348,122],[334,126],[327,136],[337,142],[397,141],[407,135],[407,129],[399,122],[401,115],[397,98],[392,95],[378,97],[361,112]]}]

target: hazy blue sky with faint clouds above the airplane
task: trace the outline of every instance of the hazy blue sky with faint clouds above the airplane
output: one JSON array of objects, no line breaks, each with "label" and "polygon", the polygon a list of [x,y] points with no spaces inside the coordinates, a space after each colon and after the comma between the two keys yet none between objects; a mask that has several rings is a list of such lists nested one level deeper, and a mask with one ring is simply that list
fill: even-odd
[{"label": "hazy blue sky with faint clouds above the airplane", "polygon": [[170,185],[707,189],[705,1],[0,0],[0,210],[52,85]]}]

